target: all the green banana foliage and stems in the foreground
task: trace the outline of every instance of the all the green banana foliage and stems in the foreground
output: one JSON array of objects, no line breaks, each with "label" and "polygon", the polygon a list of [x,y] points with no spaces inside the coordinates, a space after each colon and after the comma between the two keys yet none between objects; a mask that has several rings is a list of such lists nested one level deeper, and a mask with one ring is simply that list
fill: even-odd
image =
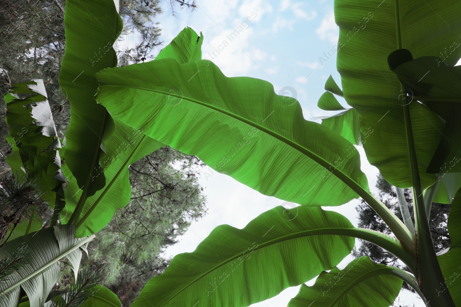
[{"label": "all the green banana foliage and stems in the foreground", "polygon": [[[71,103],[65,143],[42,103],[40,80],[15,85],[6,97],[13,147],[8,162],[37,180],[56,222],[41,229],[33,218],[23,218],[16,225],[25,235],[13,233],[0,249],[10,259],[0,303],[70,302],[72,292],[50,291],[58,278],[56,261],[66,257],[78,280],[80,250],[130,200],[128,166],[169,145],[300,206],[273,208],[242,229],[216,227],[194,252],[176,255],[150,279],[132,306],[243,307],[301,285],[290,307],[384,307],[403,282],[426,306],[461,306],[461,71],[454,66],[461,58],[461,3],[424,2],[335,0],[343,88],[329,78],[318,106],[342,112],[319,124],[305,120],[299,102],[277,95],[269,82],[229,78],[201,60],[204,35],[190,28],[153,61],[116,67],[112,43],[123,24],[115,4],[68,0],[59,72]],[[19,96],[25,93],[30,96]],[[35,129],[22,131],[24,125]],[[395,187],[402,220],[370,192],[354,144],[363,145],[368,161]],[[413,217],[406,188],[413,194]],[[355,227],[321,208],[359,197],[389,230]],[[437,203],[451,203],[451,245],[438,253],[430,226]],[[355,238],[406,267],[362,256],[339,269]],[[304,284],[316,276],[312,286]],[[96,295],[108,291],[90,289]],[[88,297],[85,304],[93,304]],[[99,302],[120,306],[113,295]]]}]

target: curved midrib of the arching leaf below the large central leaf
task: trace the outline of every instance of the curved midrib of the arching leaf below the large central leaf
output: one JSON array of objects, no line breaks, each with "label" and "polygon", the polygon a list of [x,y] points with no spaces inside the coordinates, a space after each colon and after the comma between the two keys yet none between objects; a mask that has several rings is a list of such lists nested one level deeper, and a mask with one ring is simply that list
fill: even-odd
[{"label": "curved midrib of the arching leaf below the large central leaf", "polygon": [[[356,237],[356,233],[355,234],[352,234],[352,233],[349,233],[349,235],[347,234],[348,231],[352,231],[352,232],[361,232],[361,231],[368,231],[366,229],[362,230],[361,228],[346,228],[346,227],[331,227],[331,228],[316,228],[316,229],[311,229],[311,230],[306,230],[306,231],[302,231],[302,232],[295,232],[295,233],[292,233],[292,234],[289,234],[289,235],[286,235],[286,236],[283,236],[283,237],[278,237],[278,238],[275,238],[275,239],[272,239],[270,241],[267,241],[265,243],[261,243],[261,244],[258,244],[257,247],[254,248],[254,250],[257,250],[257,249],[262,249],[262,248],[265,248],[267,246],[271,246],[273,244],[276,244],[276,243],[280,243],[280,242],[284,242],[284,241],[288,241],[288,240],[292,240],[292,239],[296,239],[296,238],[300,238],[300,237],[311,237],[311,236],[321,236],[321,235],[331,235],[332,232],[337,232],[336,235],[338,236],[344,236],[344,237]],[[379,233],[379,232],[376,232],[376,233]],[[387,240],[392,240],[394,241],[395,243],[397,244],[400,244],[396,239],[394,239],[393,237],[390,237],[390,236],[386,236],[386,235],[382,235],[380,237],[383,237]],[[253,251],[254,251],[253,250]],[[192,284],[195,284],[195,282],[197,282],[199,279],[205,277],[206,275],[208,275],[209,273],[217,270],[219,267],[221,266],[224,266],[225,264],[243,256],[244,253],[246,253],[247,250],[235,255],[235,256],[232,256],[231,258],[225,260],[225,261],[222,261],[221,263],[219,263],[218,265],[214,266],[213,268],[209,269],[207,272],[204,272],[202,273],[200,276],[198,276],[197,278],[195,278],[193,281],[191,281],[189,284],[185,285],[181,290],[177,291],[174,295],[172,295],[168,300],[166,300],[162,305],[160,305],[159,307],[162,307],[162,306],[165,306],[165,304],[167,304],[169,301],[171,301],[173,298],[175,298],[177,295],[179,295],[181,292],[183,292],[184,290],[186,290],[189,286],[191,286]],[[194,252],[192,253],[189,253],[189,254],[193,254]]]}]

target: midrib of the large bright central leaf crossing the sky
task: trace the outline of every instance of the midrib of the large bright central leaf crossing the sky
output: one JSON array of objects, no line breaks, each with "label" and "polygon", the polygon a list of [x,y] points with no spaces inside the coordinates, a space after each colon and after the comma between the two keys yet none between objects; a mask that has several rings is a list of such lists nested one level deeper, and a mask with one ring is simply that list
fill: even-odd
[{"label": "midrib of the large bright central leaf crossing the sky", "polygon": [[[361,197],[363,197],[363,194],[370,194],[368,191],[366,191],[364,188],[362,188],[361,185],[359,185],[355,180],[353,180],[348,175],[346,175],[345,173],[343,173],[342,171],[340,171],[339,169],[337,169],[336,167],[331,165],[328,161],[325,161],[322,157],[318,156],[317,154],[313,153],[312,151],[309,151],[304,146],[301,146],[298,143],[284,137],[283,135],[281,135],[281,134],[279,134],[279,133],[277,133],[275,131],[272,131],[271,129],[268,129],[268,128],[266,128],[266,127],[264,127],[264,126],[262,126],[260,124],[257,124],[257,123],[255,123],[253,121],[250,121],[250,120],[248,120],[248,119],[246,119],[246,118],[244,118],[242,116],[239,116],[239,115],[236,115],[236,114],[234,114],[232,112],[229,112],[229,111],[223,110],[221,108],[215,107],[215,106],[213,106],[211,104],[207,104],[207,103],[202,102],[200,100],[196,100],[196,99],[188,98],[188,97],[184,97],[184,96],[179,96],[177,94],[166,93],[166,92],[163,92],[163,91],[158,91],[158,90],[153,90],[153,89],[148,89],[148,88],[143,88],[143,87],[131,87],[131,86],[125,86],[125,85],[114,85],[114,84],[106,84],[106,83],[103,83],[103,82],[101,82],[101,84],[105,84],[105,86],[109,86],[109,87],[127,87],[127,88],[139,89],[139,90],[144,90],[144,91],[149,91],[149,92],[154,92],[154,93],[160,93],[160,94],[164,94],[164,95],[168,95],[168,96],[174,96],[174,97],[177,97],[177,98],[180,98],[180,99],[188,100],[188,101],[190,101],[192,103],[200,104],[200,105],[205,106],[205,107],[207,107],[209,109],[212,109],[212,110],[221,112],[221,113],[223,113],[225,115],[231,116],[231,117],[233,117],[233,118],[235,118],[235,119],[237,119],[237,120],[239,120],[241,122],[245,122],[250,126],[253,126],[253,127],[256,127],[258,129],[260,129],[261,131],[273,136],[274,138],[284,142],[285,144],[289,145],[290,147],[293,147],[297,151],[299,151],[302,154],[308,156],[313,161],[315,161],[315,162],[319,163],[321,166],[327,168],[331,172],[331,174],[335,175],[338,179],[342,180],[346,185],[348,185],[352,190],[354,190]],[[331,168],[333,168],[333,170],[331,170]],[[335,174],[335,172],[334,172],[335,170],[338,173],[340,173],[340,176]],[[353,185],[354,187],[351,186],[351,185]]]}]

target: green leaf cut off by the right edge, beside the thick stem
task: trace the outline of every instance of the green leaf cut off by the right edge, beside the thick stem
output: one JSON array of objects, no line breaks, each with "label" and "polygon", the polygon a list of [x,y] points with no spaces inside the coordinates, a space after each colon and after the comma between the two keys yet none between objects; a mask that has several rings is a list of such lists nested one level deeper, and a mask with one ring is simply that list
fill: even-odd
[{"label": "green leaf cut off by the right edge, beside the thick stem", "polygon": [[461,306],[461,189],[451,204],[447,227],[451,246],[448,252],[437,257],[445,278],[445,284],[441,284],[437,292],[449,291],[455,305]]}]

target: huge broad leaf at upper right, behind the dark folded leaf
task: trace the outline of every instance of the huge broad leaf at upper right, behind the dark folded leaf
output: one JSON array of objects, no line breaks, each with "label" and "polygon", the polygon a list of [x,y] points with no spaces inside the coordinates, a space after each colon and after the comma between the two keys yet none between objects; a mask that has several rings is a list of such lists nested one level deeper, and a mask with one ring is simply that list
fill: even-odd
[{"label": "huge broad leaf at upper right, behind the dark folded leaf", "polygon": [[[335,20],[340,28],[337,70],[344,98],[359,112],[362,134],[371,127],[373,133],[364,144],[367,159],[392,185],[406,188],[412,185],[412,179],[401,84],[389,70],[387,57],[398,48],[410,50],[415,57],[445,52],[445,63],[454,65],[461,48],[453,52],[445,49],[459,39],[460,12],[460,1],[335,0]],[[420,180],[425,189],[437,180],[426,169],[444,123],[422,104],[413,102],[409,108]]]}]

